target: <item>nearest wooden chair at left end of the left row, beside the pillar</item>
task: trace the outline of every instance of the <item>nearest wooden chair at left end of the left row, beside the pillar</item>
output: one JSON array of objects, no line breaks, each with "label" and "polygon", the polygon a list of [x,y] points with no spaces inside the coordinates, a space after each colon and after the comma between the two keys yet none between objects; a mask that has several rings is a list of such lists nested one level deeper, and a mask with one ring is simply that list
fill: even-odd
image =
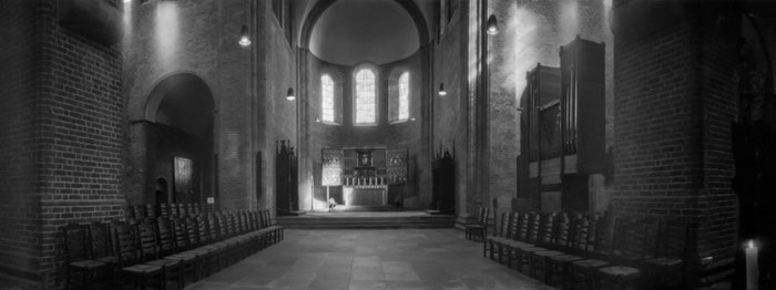
[{"label": "nearest wooden chair at left end of the left row, beside the pillar", "polygon": [[[82,277],[82,288],[92,287],[96,275],[106,269],[106,263],[90,259],[91,237],[89,228],[75,222],[69,222],[61,227],[64,246],[64,265],[67,271],[65,287],[70,289],[71,272],[79,271]],[[89,282],[88,282],[89,281]]]}]

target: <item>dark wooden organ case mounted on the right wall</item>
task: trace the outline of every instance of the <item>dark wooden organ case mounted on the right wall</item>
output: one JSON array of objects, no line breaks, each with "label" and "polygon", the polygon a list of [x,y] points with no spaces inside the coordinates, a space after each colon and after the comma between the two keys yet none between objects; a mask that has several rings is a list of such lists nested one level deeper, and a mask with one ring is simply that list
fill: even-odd
[{"label": "dark wooden organ case mounted on the right wall", "polygon": [[589,210],[590,176],[606,169],[604,56],[603,43],[578,37],[560,69],[528,73],[518,190],[542,210]]}]

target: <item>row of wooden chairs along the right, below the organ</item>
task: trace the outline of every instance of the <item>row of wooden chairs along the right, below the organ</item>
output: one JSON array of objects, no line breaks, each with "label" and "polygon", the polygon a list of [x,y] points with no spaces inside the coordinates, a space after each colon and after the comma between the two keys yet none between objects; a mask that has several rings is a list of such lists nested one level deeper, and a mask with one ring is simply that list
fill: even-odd
[{"label": "row of wooden chairs along the right, below the organ", "polygon": [[[550,284],[683,288],[693,224],[581,213],[503,213],[483,256]],[[541,277],[540,277],[541,273]],[[560,280],[559,280],[559,279]]]}]

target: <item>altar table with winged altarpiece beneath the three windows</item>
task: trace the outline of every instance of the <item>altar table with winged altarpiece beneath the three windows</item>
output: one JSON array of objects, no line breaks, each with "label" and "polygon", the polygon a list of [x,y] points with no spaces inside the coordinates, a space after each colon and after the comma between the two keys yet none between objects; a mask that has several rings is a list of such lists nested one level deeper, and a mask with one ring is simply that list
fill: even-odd
[{"label": "altar table with winged altarpiece beneath the three windows", "polygon": [[389,186],[407,183],[407,148],[324,148],[321,176],[327,200],[330,187],[341,186],[340,205],[391,205]]}]

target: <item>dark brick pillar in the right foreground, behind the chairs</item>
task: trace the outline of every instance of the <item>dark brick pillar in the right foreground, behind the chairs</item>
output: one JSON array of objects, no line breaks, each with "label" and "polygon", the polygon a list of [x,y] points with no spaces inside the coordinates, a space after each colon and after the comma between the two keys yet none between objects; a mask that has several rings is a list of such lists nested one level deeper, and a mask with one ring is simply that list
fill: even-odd
[{"label": "dark brick pillar in the right foreground, behind the chairs", "polygon": [[[697,255],[729,257],[737,23],[718,22],[717,4],[658,4],[615,8],[612,209],[702,221]],[[637,24],[655,13],[663,17]]]}]

